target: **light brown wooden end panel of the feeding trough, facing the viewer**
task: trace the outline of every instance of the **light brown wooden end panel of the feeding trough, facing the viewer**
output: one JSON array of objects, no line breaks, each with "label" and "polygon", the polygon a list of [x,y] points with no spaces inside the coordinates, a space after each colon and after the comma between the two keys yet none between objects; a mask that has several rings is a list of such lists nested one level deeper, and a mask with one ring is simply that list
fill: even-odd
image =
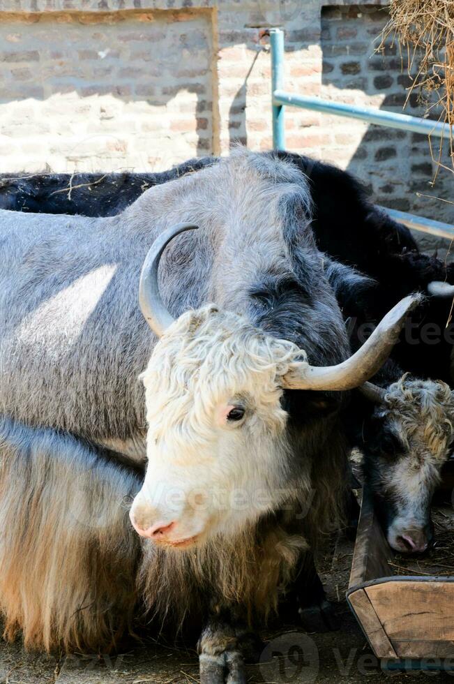
[{"label": "light brown wooden end panel of the feeding trough, facing the viewer", "polygon": [[454,582],[388,581],[365,592],[391,641],[454,641]]}]

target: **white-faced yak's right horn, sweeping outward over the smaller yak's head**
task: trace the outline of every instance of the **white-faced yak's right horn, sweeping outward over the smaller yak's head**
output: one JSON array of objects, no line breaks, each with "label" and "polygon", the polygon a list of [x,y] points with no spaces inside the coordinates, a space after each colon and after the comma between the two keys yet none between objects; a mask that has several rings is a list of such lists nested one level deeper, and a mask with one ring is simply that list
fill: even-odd
[{"label": "white-faced yak's right horn, sweeping outward over the smaller yak's head", "polygon": [[384,364],[398,341],[407,313],[423,300],[422,295],[409,295],[388,311],[372,335],[349,359],[337,366],[298,364],[283,378],[287,389],[354,389],[371,378]]}]

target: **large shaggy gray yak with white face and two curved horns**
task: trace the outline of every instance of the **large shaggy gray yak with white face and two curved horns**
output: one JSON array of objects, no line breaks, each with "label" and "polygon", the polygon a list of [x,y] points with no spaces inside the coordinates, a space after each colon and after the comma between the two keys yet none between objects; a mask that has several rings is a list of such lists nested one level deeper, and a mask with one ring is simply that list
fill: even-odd
[{"label": "large shaggy gray yak with white face and two curved horns", "polygon": [[139,611],[190,619],[201,681],[243,683],[246,627],[338,519],[342,390],[418,298],[349,357],[305,177],[245,151],[119,216],[0,211],[0,235],[6,637],[99,650]]}]

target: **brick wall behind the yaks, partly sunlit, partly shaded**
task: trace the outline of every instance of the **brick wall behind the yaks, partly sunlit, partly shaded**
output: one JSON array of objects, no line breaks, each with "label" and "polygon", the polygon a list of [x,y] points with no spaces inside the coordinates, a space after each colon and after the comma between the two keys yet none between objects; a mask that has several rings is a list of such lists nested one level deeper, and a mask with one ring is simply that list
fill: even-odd
[{"label": "brick wall behind the yaks, partly sunlit, partly shaded", "polygon": [[[381,0],[0,0],[1,170],[160,170],[236,140],[269,149],[267,25],[286,32],[286,89],[402,111],[396,47],[373,54],[384,22]],[[414,98],[408,111],[422,111]],[[289,108],[286,135],[374,200],[454,221],[454,205],[416,195],[452,199],[452,174],[429,185],[426,138]]]}]

